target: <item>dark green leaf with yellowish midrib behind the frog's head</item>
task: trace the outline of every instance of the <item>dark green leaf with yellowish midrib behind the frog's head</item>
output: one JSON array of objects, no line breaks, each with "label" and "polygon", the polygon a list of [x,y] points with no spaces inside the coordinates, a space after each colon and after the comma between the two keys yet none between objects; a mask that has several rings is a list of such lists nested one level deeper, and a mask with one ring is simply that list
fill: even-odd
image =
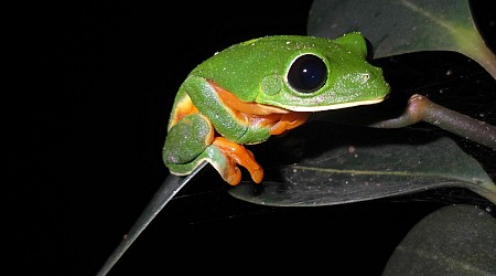
[{"label": "dark green leaf with yellowish midrib behind the frog's head", "polygon": [[308,33],[335,39],[362,32],[384,57],[420,51],[455,51],[496,78],[496,55],[486,46],[466,0],[315,0]]}]

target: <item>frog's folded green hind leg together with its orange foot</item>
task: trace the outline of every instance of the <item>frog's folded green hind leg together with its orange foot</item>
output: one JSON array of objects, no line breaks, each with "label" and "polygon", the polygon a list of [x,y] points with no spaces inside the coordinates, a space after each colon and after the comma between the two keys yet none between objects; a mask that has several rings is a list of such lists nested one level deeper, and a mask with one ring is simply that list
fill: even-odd
[{"label": "frog's folded green hind leg together with its orange foot", "polygon": [[261,182],[263,170],[254,155],[241,145],[223,137],[214,137],[211,120],[196,113],[187,115],[169,130],[163,160],[172,173],[185,176],[191,173],[202,161],[208,161],[231,185],[241,180],[240,164],[250,172],[255,182]]}]

